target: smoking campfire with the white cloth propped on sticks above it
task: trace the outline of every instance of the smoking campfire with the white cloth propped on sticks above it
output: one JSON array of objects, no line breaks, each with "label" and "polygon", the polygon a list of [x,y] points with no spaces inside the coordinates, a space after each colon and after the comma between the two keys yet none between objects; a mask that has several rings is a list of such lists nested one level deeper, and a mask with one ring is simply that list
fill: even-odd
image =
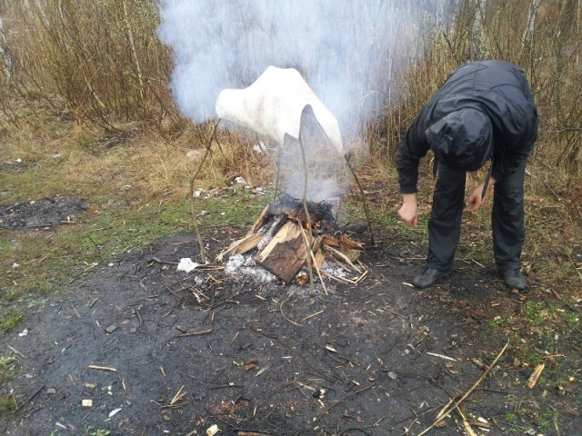
[{"label": "smoking campfire with the white cloth propped on sticks above it", "polygon": [[[278,144],[276,203],[267,204],[246,236],[231,243],[217,260],[254,252],[250,255],[256,263],[287,283],[313,283],[316,277],[322,283],[325,277],[351,284],[364,280],[367,270],[359,261],[363,243],[352,240],[346,227],[338,227],[334,208],[339,209],[339,197],[329,199],[343,192],[349,169],[367,218],[367,224],[358,227],[367,229],[373,244],[364,190],[336,118],[301,74],[269,66],[247,88],[223,90],[216,114]],[[283,195],[277,195],[280,180]]]}]

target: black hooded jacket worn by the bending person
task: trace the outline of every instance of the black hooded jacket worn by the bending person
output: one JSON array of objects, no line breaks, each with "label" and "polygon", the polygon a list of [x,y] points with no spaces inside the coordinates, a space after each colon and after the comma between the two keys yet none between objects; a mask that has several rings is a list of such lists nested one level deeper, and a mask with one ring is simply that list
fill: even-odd
[{"label": "black hooded jacket worn by the bending person", "polygon": [[[449,140],[461,148],[469,142],[477,144],[477,147],[484,147],[482,155],[477,158],[477,166],[491,157],[491,175],[497,181],[527,160],[537,139],[537,109],[526,75],[517,65],[506,61],[465,64],[448,76],[445,84],[422,108],[398,144],[396,169],[401,193],[416,193],[418,162],[431,147],[436,155],[441,152],[439,147],[442,144],[438,144],[438,135],[434,134],[438,123],[442,124],[447,115],[447,119],[458,120],[455,113],[459,111],[466,114],[478,111],[479,114],[486,114],[485,118],[488,117],[490,127],[486,131],[490,133],[487,134],[489,138],[476,141],[471,137],[464,141],[466,130],[460,129]],[[470,130],[469,125],[467,135],[474,136],[475,132],[471,133]],[[470,150],[467,153],[475,151]],[[446,162],[442,164],[447,165]],[[457,166],[455,169],[467,171],[477,169],[463,168],[463,163],[460,162],[458,165],[447,166]]]}]

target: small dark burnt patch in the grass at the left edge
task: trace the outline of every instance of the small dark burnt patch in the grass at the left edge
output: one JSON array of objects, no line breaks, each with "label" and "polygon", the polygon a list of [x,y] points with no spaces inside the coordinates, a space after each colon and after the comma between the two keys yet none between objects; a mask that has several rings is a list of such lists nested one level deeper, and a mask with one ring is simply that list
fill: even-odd
[{"label": "small dark burnt patch in the grass at the left edge", "polygon": [[75,215],[83,213],[87,207],[83,199],[60,196],[8,204],[0,207],[0,227],[41,229],[74,223]]}]

